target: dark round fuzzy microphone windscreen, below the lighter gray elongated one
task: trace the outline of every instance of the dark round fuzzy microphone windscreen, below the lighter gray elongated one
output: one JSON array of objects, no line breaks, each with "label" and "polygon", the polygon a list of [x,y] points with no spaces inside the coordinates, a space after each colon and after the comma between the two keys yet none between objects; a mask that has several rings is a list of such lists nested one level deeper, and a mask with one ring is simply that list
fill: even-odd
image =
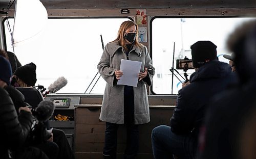
[{"label": "dark round fuzzy microphone windscreen, below the lighter gray elongated one", "polygon": [[35,117],[39,121],[46,121],[51,118],[55,109],[55,105],[52,101],[42,100],[35,110]]}]

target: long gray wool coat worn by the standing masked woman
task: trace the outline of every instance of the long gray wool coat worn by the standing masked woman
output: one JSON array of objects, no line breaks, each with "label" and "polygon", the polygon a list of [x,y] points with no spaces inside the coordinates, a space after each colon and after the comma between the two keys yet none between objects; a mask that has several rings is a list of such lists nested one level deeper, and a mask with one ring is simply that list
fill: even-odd
[{"label": "long gray wool coat worn by the standing masked woman", "polygon": [[[123,47],[118,45],[118,42],[110,42],[106,44],[97,66],[99,73],[106,81],[99,119],[117,124],[124,123],[124,85],[117,85],[115,77],[115,71],[120,69],[121,59],[127,59]],[[150,122],[145,84],[152,85],[155,68],[144,45],[142,48],[134,45],[129,52],[129,60],[142,62],[140,72],[143,72],[145,67],[148,70],[147,76],[138,81],[137,87],[133,87],[135,124],[144,124]]]}]

